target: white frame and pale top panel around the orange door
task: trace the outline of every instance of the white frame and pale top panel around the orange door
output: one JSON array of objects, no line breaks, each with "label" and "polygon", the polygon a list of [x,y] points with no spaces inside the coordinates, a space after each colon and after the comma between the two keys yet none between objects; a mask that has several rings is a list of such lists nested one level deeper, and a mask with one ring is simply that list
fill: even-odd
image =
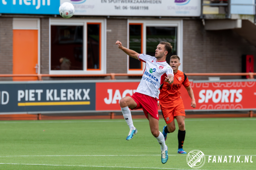
[{"label": "white frame and pale top panel around the orange door", "polygon": [[[20,21],[19,24],[14,24],[15,21]],[[36,21],[36,24],[34,24]],[[41,73],[41,31],[40,31],[40,19],[39,18],[13,18],[12,19],[12,30],[37,30],[37,74]],[[31,26],[34,25],[34,26]],[[35,66],[36,68],[36,66]]]}]

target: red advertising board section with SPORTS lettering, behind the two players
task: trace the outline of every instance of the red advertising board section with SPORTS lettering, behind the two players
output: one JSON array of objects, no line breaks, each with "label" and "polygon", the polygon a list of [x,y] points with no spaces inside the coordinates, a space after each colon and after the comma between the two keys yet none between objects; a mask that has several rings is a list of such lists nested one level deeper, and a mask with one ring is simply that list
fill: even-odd
[{"label": "red advertising board section with SPORTS lettering, behind the two players", "polygon": [[[255,83],[256,81],[190,82],[196,108],[190,106],[191,99],[183,86],[180,93],[187,111],[255,110]],[[138,85],[139,82],[96,83],[96,110],[120,111],[117,100],[134,93]],[[161,110],[160,107],[158,110]]]}]

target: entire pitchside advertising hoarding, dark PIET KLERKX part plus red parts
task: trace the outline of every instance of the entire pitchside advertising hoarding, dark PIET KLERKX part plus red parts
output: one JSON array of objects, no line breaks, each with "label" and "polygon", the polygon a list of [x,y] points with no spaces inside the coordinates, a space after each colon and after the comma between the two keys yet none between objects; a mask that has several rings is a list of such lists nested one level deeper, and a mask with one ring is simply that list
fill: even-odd
[{"label": "entire pitchside advertising hoarding, dark PIET KLERKX part plus red parts", "polygon": [[[121,112],[140,80],[0,82],[0,113]],[[256,110],[256,81],[192,81],[196,108],[182,86],[185,111]],[[161,103],[160,103],[161,104]],[[160,111],[160,107],[158,107]]]}]

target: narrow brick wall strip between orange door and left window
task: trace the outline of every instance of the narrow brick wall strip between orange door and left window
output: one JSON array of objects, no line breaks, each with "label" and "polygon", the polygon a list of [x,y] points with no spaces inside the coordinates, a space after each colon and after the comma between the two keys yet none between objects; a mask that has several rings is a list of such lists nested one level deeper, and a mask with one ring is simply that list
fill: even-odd
[{"label": "narrow brick wall strip between orange door and left window", "polygon": [[41,74],[49,74],[49,18],[41,18]]}]

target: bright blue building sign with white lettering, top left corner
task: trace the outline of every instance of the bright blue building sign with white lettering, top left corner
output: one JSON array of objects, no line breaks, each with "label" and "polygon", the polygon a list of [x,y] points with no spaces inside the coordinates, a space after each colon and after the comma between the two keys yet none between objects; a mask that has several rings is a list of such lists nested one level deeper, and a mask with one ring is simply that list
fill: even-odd
[{"label": "bright blue building sign with white lettering, top left corner", "polygon": [[59,14],[58,0],[2,0],[0,13]]}]

